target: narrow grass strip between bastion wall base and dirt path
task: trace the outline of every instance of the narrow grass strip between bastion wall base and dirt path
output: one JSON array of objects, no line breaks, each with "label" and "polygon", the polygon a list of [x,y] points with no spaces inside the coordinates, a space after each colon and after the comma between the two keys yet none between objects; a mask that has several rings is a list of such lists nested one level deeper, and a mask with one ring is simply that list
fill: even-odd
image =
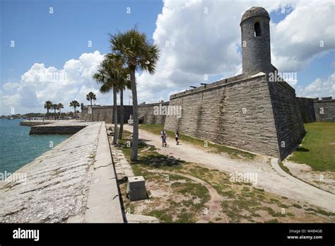
[{"label": "narrow grass strip between bastion wall base and dirt path", "polygon": [[[146,130],[151,132],[152,134],[160,135],[160,131],[163,129],[163,125],[161,124],[141,124],[140,129]],[[169,131],[165,130],[167,133],[167,136],[170,136],[170,139],[175,139],[175,131]],[[203,147],[205,141],[203,139],[196,139],[192,136],[187,136],[184,134],[180,133],[180,141],[187,142],[188,144],[193,144],[195,146]],[[227,153],[231,158],[247,158],[247,159],[253,159],[255,157],[254,154],[246,152],[246,151],[240,151],[239,149],[236,148],[229,148],[227,146],[223,146],[220,144],[212,144],[212,143],[207,143],[207,146],[209,148],[212,148],[213,151],[216,153],[224,152]]]}]

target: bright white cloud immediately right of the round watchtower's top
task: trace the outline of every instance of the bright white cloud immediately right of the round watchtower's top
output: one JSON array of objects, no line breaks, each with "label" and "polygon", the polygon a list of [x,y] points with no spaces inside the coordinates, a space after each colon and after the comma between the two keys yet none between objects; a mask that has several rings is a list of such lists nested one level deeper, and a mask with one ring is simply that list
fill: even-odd
[{"label": "bright white cloud immediately right of the round watchtower's top", "polygon": [[271,52],[281,71],[299,71],[335,49],[334,1],[299,1],[278,24],[271,23]]}]

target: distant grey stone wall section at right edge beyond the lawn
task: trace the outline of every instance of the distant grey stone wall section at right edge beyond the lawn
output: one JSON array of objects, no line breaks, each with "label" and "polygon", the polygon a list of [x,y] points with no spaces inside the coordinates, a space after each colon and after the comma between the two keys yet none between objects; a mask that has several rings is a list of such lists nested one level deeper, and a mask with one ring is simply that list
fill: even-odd
[{"label": "distant grey stone wall section at right edge beyond the lawn", "polygon": [[315,100],[314,109],[317,122],[335,122],[335,99]]}]

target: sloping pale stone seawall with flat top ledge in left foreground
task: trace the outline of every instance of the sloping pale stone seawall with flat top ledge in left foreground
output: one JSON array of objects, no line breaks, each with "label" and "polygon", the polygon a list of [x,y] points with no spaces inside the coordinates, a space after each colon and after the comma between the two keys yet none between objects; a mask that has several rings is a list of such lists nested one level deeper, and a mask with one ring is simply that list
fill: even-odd
[{"label": "sloping pale stone seawall with flat top ledge in left foreground", "polygon": [[[123,223],[104,122],[94,122],[0,182],[1,223]],[[104,209],[105,208],[105,209]]]}]

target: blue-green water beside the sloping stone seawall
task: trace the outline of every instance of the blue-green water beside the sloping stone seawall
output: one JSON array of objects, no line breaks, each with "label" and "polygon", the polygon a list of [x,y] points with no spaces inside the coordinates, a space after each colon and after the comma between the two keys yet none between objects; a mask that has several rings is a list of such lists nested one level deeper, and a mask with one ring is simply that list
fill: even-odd
[{"label": "blue-green water beside the sloping stone seawall", "polygon": [[22,119],[0,119],[0,173],[15,172],[71,135],[29,135]]}]

